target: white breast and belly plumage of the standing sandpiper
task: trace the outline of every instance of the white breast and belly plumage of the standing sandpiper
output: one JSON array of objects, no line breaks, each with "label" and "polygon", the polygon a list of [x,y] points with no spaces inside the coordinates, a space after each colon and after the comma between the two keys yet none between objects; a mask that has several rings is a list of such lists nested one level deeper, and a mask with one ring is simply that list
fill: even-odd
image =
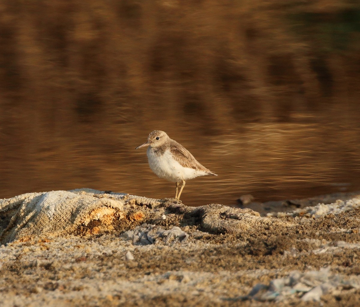
[{"label": "white breast and belly plumage of the standing sandpiper", "polygon": [[172,182],[188,180],[198,176],[208,175],[204,171],[195,170],[189,167],[183,167],[173,157],[169,149],[166,149],[162,155],[153,152],[152,148],[148,148],[147,155],[149,166],[152,171],[160,178]]}]

